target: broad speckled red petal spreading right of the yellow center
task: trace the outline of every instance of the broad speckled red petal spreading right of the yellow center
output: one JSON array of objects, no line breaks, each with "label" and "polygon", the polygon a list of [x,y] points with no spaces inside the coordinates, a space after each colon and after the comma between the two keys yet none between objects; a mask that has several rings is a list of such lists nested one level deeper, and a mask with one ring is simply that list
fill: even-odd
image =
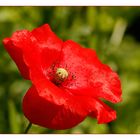
[{"label": "broad speckled red petal spreading right of the yellow center", "polygon": [[121,85],[118,75],[102,64],[95,51],[82,48],[69,40],[64,42],[60,65],[66,67],[75,78],[63,86],[75,94],[99,97],[113,103],[121,101]]}]

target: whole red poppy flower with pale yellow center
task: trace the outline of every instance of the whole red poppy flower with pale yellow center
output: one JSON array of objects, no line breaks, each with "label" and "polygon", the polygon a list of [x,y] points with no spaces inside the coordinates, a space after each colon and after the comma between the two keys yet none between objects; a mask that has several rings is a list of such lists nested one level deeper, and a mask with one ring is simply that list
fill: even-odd
[{"label": "whole red poppy flower with pale yellow center", "polygon": [[48,24],[17,31],[3,43],[21,75],[32,82],[22,105],[30,122],[67,129],[87,116],[98,123],[116,119],[116,112],[100,98],[120,102],[120,80],[94,50],[63,42]]}]

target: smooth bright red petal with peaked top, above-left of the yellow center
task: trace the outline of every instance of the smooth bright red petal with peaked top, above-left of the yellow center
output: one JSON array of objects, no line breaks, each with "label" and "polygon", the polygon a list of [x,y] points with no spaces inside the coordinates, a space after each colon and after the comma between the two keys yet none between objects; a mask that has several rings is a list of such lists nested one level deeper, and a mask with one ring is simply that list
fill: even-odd
[{"label": "smooth bright red petal with peaked top, above-left of the yellow center", "polygon": [[42,50],[42,68],[46,70],[52,63],[56,63],[59,60],[63,41],[55,35],[48,24],[34,29],[31,33],[37,39],[38,45]]}]

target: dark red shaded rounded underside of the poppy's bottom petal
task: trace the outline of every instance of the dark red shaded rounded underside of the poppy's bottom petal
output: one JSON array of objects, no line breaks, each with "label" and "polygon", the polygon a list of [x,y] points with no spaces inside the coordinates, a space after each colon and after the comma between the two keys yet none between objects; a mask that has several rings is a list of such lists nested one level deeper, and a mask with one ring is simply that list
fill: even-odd
[{"label": "dark red shaded rounded underside of the poppy's bottom petal", "polygon": [[85,119],[85,115],[79,114],[75,108],[70,109],[69,104],[56,105],[42,98],[35,87],[24,96],[23,112],[30,122],[59,130],[74,127]]}]

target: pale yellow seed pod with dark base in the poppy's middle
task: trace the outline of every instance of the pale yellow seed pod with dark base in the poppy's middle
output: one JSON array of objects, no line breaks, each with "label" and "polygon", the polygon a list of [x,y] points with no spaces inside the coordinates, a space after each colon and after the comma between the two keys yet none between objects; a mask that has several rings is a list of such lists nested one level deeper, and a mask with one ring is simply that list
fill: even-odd
[{"label": "pale yellow seed pod with dark base in the poppy's middle", "polygon": [[68,72],[64,68],[57,68],[55,73],[55,82],[60,84],[68,78]]}]

